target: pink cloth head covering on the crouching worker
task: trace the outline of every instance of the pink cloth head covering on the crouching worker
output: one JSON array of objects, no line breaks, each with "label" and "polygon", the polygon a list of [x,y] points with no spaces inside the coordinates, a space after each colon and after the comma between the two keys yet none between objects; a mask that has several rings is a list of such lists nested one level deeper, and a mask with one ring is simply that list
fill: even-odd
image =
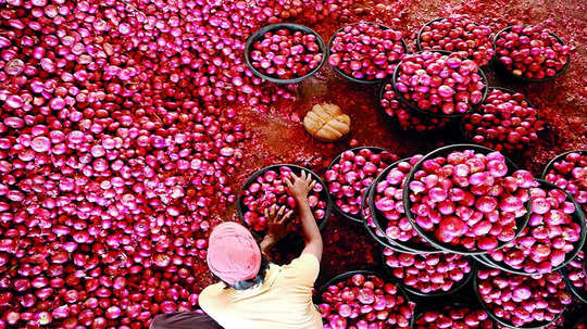
[{"label": "pink cloth head covering on the crouching worker", "polygon": [[259,274],[261,251],[242,225],[226,222],[216,226],[208,244],[208,266],[226,283],[233,286]]}]

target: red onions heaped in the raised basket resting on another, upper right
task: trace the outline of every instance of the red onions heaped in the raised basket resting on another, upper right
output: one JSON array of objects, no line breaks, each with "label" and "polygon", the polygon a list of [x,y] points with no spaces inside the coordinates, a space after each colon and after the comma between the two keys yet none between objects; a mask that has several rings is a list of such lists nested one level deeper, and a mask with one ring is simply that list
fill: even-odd
[{"label": "red onions heaped in the raised basket resting on another, upper right", "polygon": [[462,115],[480,104],[486,81],[479,66],[459,53],[422,51],[399,64],[395,88],[408,103],[425,113]]}]

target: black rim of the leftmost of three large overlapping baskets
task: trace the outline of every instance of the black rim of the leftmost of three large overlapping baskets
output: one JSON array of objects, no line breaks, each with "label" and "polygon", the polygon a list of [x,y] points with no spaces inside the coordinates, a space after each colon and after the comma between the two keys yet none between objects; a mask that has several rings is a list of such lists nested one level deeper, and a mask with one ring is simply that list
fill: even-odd
[{"label": "black rim of the leftmost of three large overlapping baskets", "polygon": [[[405,161],[410,161],[410,159],[407,157],[407,159],[396,161],[395,163],[389,165],[387,168],[385,168],[382,173],[379,173],[377,178],[375,178],[375,180],[373,180],[373,187],[377,186],[377,184],[379,181],[386,179],[387,174],[389,173],[389,170],[397,167],[400,162],[405,162]],[[405,177],[405,178],[408,178],[408,177]],[[373,202],[375,200],[375,191],[376,191],[375,188],[373,188],[373,189],[371,189],[369,191],[369,208],[371,211],[371,217],[373,218],[373,223],[375,223],[375,226],[377,227],[377,229],[379,231],[382,231],[382,232],[385,232],[385,228],[384,228],[384,225],[383,225],[383,220],[386,220],[386,219],[383,219],[383,218],[385,218],[385,216],[382,214],[382,212],[379,210],[377,210],[377,207],[375,206],[375,203]],[[412,222],[410,222],[410,223],[412,223]],[[414,224],[412,223],[412,226]],[[400,250],[405,250],[408,253],[438,253],[438,252],[441,252],[441,250],[438,250],[434,245],[428,245],[426,243],[411,242],[411,241],[397,241],[397,240],[392,240],[392,239],[387,239],[387,240],[389,240],[389,243],[392,243],[392,244],[399,246]]]}]

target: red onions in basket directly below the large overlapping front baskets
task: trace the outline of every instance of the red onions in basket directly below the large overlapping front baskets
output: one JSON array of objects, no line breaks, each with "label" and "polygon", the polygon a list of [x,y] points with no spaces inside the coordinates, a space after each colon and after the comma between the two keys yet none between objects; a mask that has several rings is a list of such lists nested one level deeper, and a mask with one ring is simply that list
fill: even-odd
[{"label": "red onions in basket directly below the large overlapping front baskets", "polygon": [[422,294],[449,292],[466,280],[470,257],[453,253],[400,253],[384,249],[385,265],[407,288]]}]

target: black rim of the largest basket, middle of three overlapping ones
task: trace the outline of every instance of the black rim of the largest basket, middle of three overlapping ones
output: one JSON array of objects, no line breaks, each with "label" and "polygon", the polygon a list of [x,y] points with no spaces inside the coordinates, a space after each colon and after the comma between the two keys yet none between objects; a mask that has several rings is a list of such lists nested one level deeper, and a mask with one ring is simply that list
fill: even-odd
[{"label": "black rim of the largest basket, middle of three overlapping ones", "polygon": [[[428,231],[424,231],[422,228],[420,228],[420,226],[415,223],[415,219],[414,219],[413,214],[411,212],[412,207],[411,207],[411,202],[410,202],[410,189],[409,189],[409,184],[408,182],[413,180],[415,173],[420,169],[422,164],[425,161],[434,159],[434,157],[436,157],[438,155],[445,155],[445,154],[448,154],[448,153],[450,153],[452,151],[462,151],[462,150],[473,150],[475,152],[483,153],[483,154],[488,154],[488,153],[495,152],[494,150],[491,150],[489,148],[485,148],[485,147],[477,145],[477,144],[452,144],[452,145],[436,149],[436,150],[432,151],[430,153],[424,155],[424,157],[422,157],[422,160],[420,160],[412,167],[412,169],[408,174],[408,177],[405,178],[407,184],[403,185],[403,208],[405,210],[405,215],[408,217],[408,220],[410,220],[410,223],[412,224],[412,226],[414,227],[416,232],[419,232],[420,236],[422,238],[424,238],[424,240],[428,241],[435,248],[437,248],[439,250],[442,250],[442,251],[455,253],[455,254],[482,255],[482,254],[486,254],[487,251],[485,251],[485,250],[467,250],[467,249],[464,249],[462,246],[451,245],[451,244],[442,243],[442,242],[438,241],[434,237],[434,233],[428,232]],[[505,157],[505,163],[508,164],[508,174],[511,174],[516,169],[515,164],[513,164],[508,157]],[[522,230],[528,224],[528,219],[529,219],[529,215],[530,215],[530,207],[532,207],[530,200],[528,200],[525,205],[526,205],[526,210],[527,210],[526,215],[522,216],[522,217],[519,217],[515,220],[516,222],[516,227],[519,228],[519,230],[516,231],[516,235],[514,236],[514,239],[517,238],[520,232],[522,232]],[[512,241],[513,241],[513,239],[512,239]],[[499,244],[498,248],[496,248],[495,250],[499,250],[499,249],[503,248],[505,244],[508,244],[508,242]]]}]

